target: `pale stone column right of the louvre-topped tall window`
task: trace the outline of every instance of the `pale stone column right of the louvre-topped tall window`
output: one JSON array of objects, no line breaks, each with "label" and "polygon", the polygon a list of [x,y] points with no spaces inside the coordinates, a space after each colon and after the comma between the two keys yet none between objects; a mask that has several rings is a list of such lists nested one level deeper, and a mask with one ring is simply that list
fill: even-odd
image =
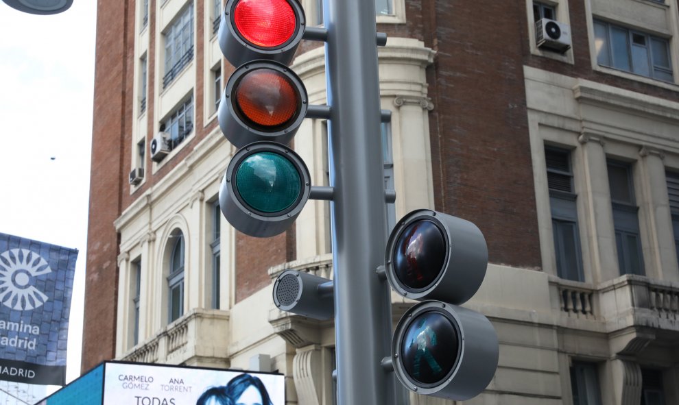
[{"label": "pale stone column right of the louvre-topped tall window", "polygon": [[606,169],[604,137],[583,132],[582,143],[584,182],[582,192],[586,220],[582,224],[588,235],[588,251],[593,282],[612,280],[620,275],[616,254],[613,211],[610,205],[610,188]]}]

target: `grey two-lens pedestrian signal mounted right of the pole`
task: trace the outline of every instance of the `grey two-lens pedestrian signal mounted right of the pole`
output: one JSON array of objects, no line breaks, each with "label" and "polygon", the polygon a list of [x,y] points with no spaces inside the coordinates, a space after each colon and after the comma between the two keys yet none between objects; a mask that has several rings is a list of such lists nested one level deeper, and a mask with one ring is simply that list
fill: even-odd
[{"label": "grey two-lens pedestrian signal mounted right of the pole", "polygon": [[497,369],[497,334],[484,315],[459,306],[481,286],[488,247],[469,221],[415,210],[396,225],[385,254],[387,279],[404,297],[425,300],[398,322],[396,377],[420,394],[468,400]]}]

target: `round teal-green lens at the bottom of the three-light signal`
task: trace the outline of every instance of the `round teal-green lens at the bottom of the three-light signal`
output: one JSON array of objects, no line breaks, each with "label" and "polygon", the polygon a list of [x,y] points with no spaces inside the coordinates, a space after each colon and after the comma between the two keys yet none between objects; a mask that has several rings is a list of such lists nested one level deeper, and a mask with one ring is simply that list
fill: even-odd
[{"label": "round teal-green lens at the bottom of the three-light signal", "polygon": [[263,151],[243,159],[236,169],[235,188],[252,210],[273,214],[298,201],[302,180],[285,156]]}]

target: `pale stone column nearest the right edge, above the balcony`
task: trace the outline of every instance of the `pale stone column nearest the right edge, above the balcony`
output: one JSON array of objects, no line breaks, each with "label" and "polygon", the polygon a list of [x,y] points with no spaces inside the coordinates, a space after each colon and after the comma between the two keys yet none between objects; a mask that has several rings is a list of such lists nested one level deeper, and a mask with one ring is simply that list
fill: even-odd
[{"label": "pale stone column nearest the right edge, above the balcony", "polygon": [[639,179],[634,182],[642,189],[639,197],[639,217],[643,235],[643,257],[646,275],[659,280],[678,282],[677,256],[674,247],[667,180],[665,179],[665,154],[651,147],[639,151]]}]

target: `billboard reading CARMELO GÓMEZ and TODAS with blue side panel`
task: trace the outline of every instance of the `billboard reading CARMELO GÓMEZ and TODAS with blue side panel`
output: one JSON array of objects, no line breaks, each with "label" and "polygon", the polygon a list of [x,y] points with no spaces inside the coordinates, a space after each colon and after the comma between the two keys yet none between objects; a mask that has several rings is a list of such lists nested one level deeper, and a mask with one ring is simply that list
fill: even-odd
[{"label": "billboard reading CARMELO G\u00d3MEZ and TODAS with blue side panel", "polygon": [[280,373],[106,362],[38,405],[285,405]]}]

